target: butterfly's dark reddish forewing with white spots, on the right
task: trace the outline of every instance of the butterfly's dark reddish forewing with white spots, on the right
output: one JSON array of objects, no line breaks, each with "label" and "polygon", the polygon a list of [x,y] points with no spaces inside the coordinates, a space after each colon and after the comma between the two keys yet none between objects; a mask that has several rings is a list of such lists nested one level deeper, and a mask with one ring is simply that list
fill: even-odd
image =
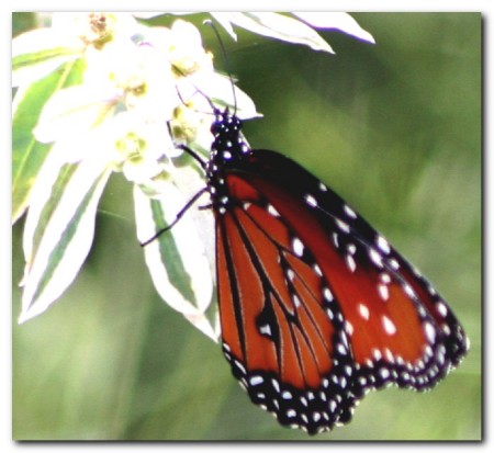
[{"label": "butterfly's dark reddish forewing with white spots, on the right", "polygon": [[340,305],[362,387],[427,388],[458,364],[467,349],[461,326],[382,235],[296,162],[266,150],[250,159],[244,177],[283,211]]}]

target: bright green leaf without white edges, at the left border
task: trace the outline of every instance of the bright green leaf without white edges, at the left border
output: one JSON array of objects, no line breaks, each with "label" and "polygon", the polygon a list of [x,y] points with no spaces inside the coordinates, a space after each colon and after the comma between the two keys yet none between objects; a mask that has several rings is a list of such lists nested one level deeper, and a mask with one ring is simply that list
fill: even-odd
[{"label": "bright green leaf without white edges, at the left border", "polygon": [[38,143],[33,136],[43,106],[60,88],[80,83],[82,72],[83,61],[67,63],[58,71],[21,87],[15,94],[12,118],[12,223],[24,213],[31,188],[52,147]]}]

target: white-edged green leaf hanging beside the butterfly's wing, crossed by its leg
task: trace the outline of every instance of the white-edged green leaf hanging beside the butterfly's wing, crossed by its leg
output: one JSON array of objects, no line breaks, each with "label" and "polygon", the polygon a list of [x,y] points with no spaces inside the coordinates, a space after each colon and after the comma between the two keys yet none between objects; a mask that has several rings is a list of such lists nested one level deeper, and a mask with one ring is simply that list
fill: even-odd
[{"label": "white-edged green leaf hanging beside the butterfly's wing, crossed by its leg", "polygon": [[[183,194],[167,184],[159,200],[134,189],[137,237],[145,242],[173,222],[184,206]],[[191,212],[193,208],[190,209]],[[190,213],[180,226],[144,247],[146,264],[161,298],[210,338],[217,339],[216,309],[211,306],[213,279],[204,246]]]}]

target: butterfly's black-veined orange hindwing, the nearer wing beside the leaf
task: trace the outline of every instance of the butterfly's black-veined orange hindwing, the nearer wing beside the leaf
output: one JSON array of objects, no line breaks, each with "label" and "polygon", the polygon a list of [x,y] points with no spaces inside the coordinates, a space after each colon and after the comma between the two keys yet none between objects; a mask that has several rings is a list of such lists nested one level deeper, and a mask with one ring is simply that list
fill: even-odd
[{"label": "butterfly's black-veined orange hindwing, the nearer wing beside the leaf", "polygon": [[[226,179],[234,192],[252,194],[236,177]],[[260,196],[218,215],[217,228],[223,341],[234,374],[283,424],[312,433],[334,426],[353,406],[341,385],[350,383],[352,365],[325,280]]]}]

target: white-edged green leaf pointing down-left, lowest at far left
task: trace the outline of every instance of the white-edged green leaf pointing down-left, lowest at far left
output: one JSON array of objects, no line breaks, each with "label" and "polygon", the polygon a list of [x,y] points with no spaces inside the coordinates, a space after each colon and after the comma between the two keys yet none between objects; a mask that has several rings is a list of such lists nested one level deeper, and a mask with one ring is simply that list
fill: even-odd
[{"label": "white-edged green leaf pointing down-left, lowest at far left", "polygon": [[76,278],[92,244],[98,202],[110,173],[102,162],[85,160],[59,166],[53,181],[41,179],[34,186],[24,229],[20,322],[45,312]]}]

